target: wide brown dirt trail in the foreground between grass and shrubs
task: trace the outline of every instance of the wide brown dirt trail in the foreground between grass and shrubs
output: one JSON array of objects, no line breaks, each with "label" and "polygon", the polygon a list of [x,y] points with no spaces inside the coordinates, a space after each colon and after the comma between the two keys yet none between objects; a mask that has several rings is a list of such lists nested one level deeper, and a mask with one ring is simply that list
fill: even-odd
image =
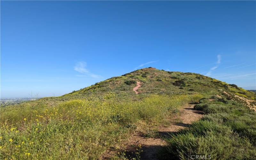
[{"label": "wide brown dirt trail in the foreground between grass and shrubs", "polygon": [[[158,150],[165,145],[165,141],[161,137],[168,136],[168,133],[177,132],[181,128],[188,127],[193,121],[198,120],[202,116],[203,113],[201,111],[194,109],[194,104],[186,105],[180,111],[180,116],[169,119],[170,122],[172,122],[169,126],[162,125],[157,127],[160,135],[159,138],[145,138],[142,133],[136,133],[128,142],[126,142],[126,150],[129,153],[134,153],[140,144],[141,149],[143,150],[140,159],[156,160],[158,159]],[[174,119],[176,119],[176,123],[173,122]]]}]

